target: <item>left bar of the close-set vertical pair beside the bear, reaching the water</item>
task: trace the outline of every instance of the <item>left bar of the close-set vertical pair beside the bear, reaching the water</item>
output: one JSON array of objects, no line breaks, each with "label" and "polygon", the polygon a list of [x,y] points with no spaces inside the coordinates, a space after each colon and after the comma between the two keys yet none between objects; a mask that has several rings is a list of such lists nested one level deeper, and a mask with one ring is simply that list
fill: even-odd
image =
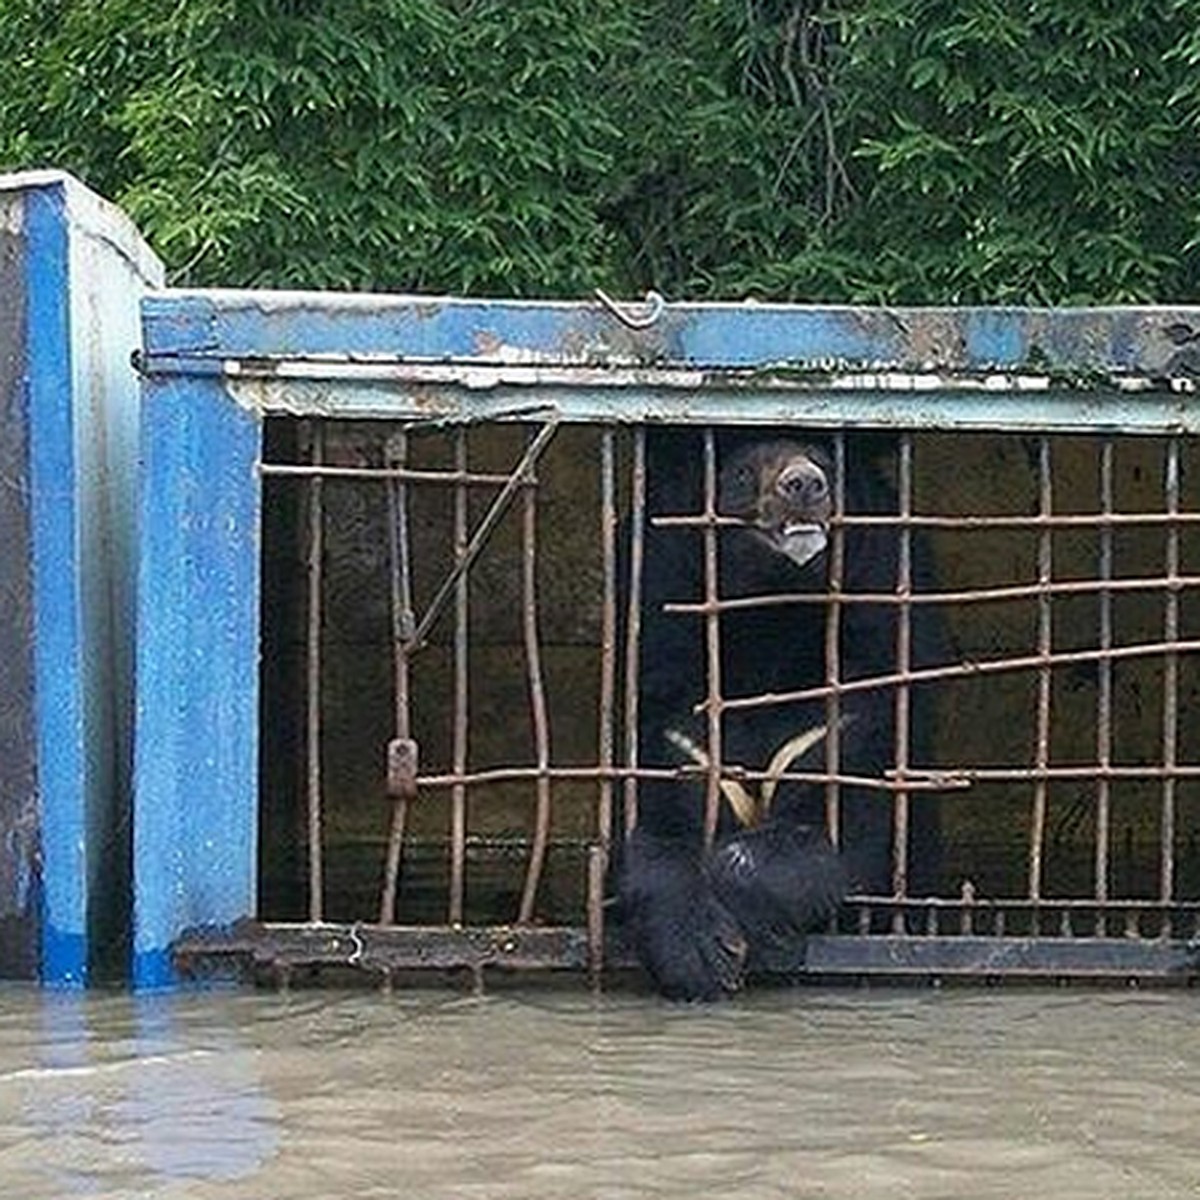
[{"label": "left bar of the close-set vertical pair beside the bear, reaching the water", "polygon": [[600,776],[596,841],[588,859],[588,965],[593,983],[604,971],[604,881],[612,841],[613,707],[617,695],[617,470],[616,434],[600,434],[600,562],[604,575],[600,610],[600,713],[596,733]]}]

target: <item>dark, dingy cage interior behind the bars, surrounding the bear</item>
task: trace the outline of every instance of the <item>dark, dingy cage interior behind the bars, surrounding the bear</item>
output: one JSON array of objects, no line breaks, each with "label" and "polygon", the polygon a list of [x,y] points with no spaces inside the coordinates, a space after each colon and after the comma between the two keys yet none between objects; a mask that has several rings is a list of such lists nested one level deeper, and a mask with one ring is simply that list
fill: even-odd
[{"label": "dark, dingy cage interior behind the bars, surrounding the bear", "polygon": [[[881,790],[898,808],[936,797],[937,895],[851,898],[839,928],[902,908],[925,934],[1194,936],[1195,446],[793,436],[870,454],[934,563],[928,590],[899,581],[890,602],[901,625],[935,604],[948,630],[930,727]],[[617,576],[618,544],[653,520],[643,448],[630,426],[269,422],[262,918],[600,920],[636,804]],[[835,511],[834,546],[854,518]]]}]

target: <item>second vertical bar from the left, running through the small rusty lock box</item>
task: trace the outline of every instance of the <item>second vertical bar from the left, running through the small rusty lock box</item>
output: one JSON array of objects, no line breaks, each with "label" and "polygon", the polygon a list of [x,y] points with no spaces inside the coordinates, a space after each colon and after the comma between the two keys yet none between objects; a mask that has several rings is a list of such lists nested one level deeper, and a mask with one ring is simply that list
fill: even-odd
[{"label": "second vertical bar from the left, running through the small rusty lock box", "polygon": [[[408,436],[394,434],[389,444],[388,462],[403,467],[408,461]],[[409,737],[408,720],[408,647],[413,637],[413,589],[409,580],[408,488],[403,480],[388,484],[388,550],[391,583],[391,654],[394,728],[397,738]],[[397,796],[391,810],[388,835],[388,856],[384,866],[383,895],[379,901],[379,924],[396,919],[396,892],[400,886],[400,858],[404,845],[404,824],[408,820],[408,797]]]}]

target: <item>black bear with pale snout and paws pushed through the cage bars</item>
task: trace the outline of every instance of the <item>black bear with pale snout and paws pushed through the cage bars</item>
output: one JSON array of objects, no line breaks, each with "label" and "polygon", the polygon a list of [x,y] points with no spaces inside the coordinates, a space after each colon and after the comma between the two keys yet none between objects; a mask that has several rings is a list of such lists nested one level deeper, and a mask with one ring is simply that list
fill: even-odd
[{"label": "black bear with pale snout and paws pushed through the cage bars", "polygon": [[[702,434],[652,431],[647,438],[647,522],[642,572],[638,742],[643,767],[707,764],[706,620],[667,612],[704,598],[704,533],[659,526],[654,516],[696,514],[703,502]],[[820,688],[827,674],[827,606],[787,602],[828,587],[835,488],[847,514],[894,514],[895,498],[858,443],[839,484],[820,444],[722,430],[716,438],[718,596],[770,604],[720,612],[724,700]],[[888,524],[850,524],[842,542],[845,593],[894,593],[899,534]],[[920,547],[914,584],[925,564]],[[840,606],[842,680],[887,676],[896,665],[896,606]],[[912,616],[913,662],[938,654],[929,606]],[[922,702],[920,690],[914,690]],[[842,786],[839,850],[824,833],[822,785],[776,779],[824,769],[828,710],[822,698],[736,707],[721,718],[724,800],[715,842],[704,852],[703,785],[643,779],[638,821],[625,840],[620,908],[626,936],[659,990],[712,1000],[737,990],[746,973],[788,972],[803,964],[805,937],[838,908],[847,889],[890,894],[893,805],[878,788]],[[920,714],[914,722],[922,727]],[[895,696],[887,688],[845,694],[838,714],[841,774],[880,778],[893,764]],[[766,775],[739,782],[733,766]],[[912,806],[910,889],[932,884],[936,811]]]}]

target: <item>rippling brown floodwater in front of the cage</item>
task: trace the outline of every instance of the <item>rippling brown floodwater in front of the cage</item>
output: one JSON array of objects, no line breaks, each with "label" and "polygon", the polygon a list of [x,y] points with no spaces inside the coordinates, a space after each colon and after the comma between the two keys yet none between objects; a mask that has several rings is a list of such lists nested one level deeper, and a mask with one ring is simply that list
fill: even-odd
[{"label": "rippling brown floodwater in front of the cage", "polygon": [[0,1195],[1200,1196],[1200,997],[0,991]]}]

